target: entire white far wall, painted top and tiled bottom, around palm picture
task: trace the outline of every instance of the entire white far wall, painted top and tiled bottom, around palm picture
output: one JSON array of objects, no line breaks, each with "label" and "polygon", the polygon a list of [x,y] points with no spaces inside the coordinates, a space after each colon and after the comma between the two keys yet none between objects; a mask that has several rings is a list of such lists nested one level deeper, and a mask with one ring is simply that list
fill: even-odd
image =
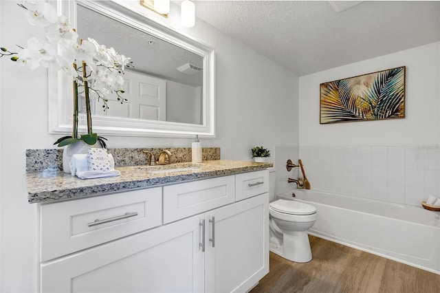
[{"label": "entire white far wall, painted top and tiled bottom, around palm picture", "polygon": [[[440,197],[440,43],[300,77],[300,158],[312,188],[420,206]],[[319,85],[406,66],[406,118],[319,124]]]}]

